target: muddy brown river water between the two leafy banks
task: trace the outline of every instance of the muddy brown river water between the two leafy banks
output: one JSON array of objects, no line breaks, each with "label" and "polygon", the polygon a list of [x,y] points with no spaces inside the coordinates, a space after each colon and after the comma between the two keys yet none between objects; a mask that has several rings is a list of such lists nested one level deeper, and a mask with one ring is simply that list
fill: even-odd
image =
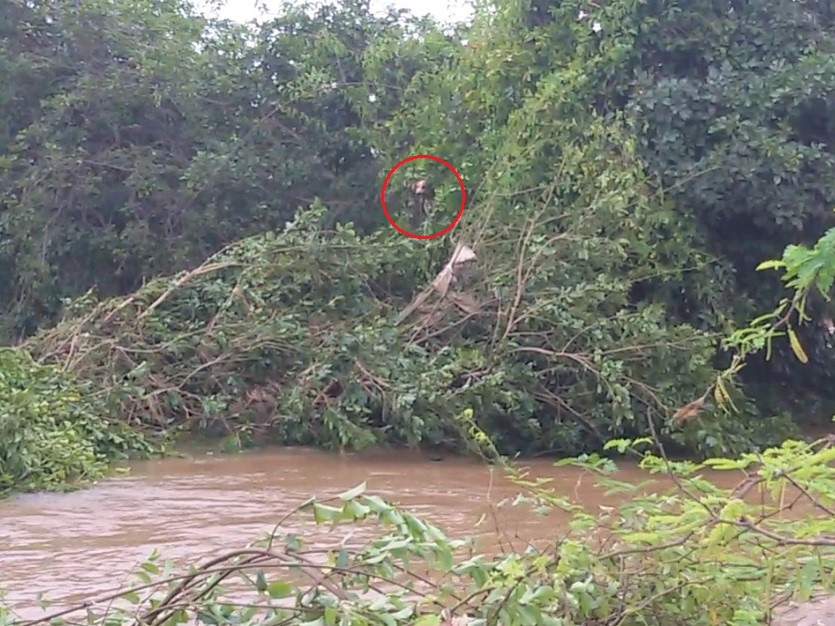
[{"label": "muddy brown river water between the two leafy banks", "polygon": [[[525,461],[531,477],[549,477],[558,493],[589,509],[616,503],[595,488],[595,478],[550,461]],[[618,462],[616,478],[648,475]],[[724,473],[723,485],[739,481]],[[669,486],[655,477],[657,489]],[[194,563],[243,547],[271,531],[312,495],[335,495],[361,482],[367,491],[402,505],[453,536],[476,536],[493,545],[502,537],[516,547],[554,538],[565,519],[534,517],[495,505],[520,493],[501,470],[468,459],[433,462],[419,454],[374,452],[334,455],[307,449],[261,450],[233,456],[133,464],[129,473],[89,489],[33,494],[0,502],[0,590],[25,618],[43,615],[36,596],[52,609],[115,590],[157,548],[176,563]],[[655,487],[653,488],[655,489]],[[491,510],[489,523],[476,521]],[[498,530],[498,532],[497,532]],[[306,517],[282,526],[309,544],[334,545],[334,535]],[[344,533],[345,531],[341,531]]]}]

